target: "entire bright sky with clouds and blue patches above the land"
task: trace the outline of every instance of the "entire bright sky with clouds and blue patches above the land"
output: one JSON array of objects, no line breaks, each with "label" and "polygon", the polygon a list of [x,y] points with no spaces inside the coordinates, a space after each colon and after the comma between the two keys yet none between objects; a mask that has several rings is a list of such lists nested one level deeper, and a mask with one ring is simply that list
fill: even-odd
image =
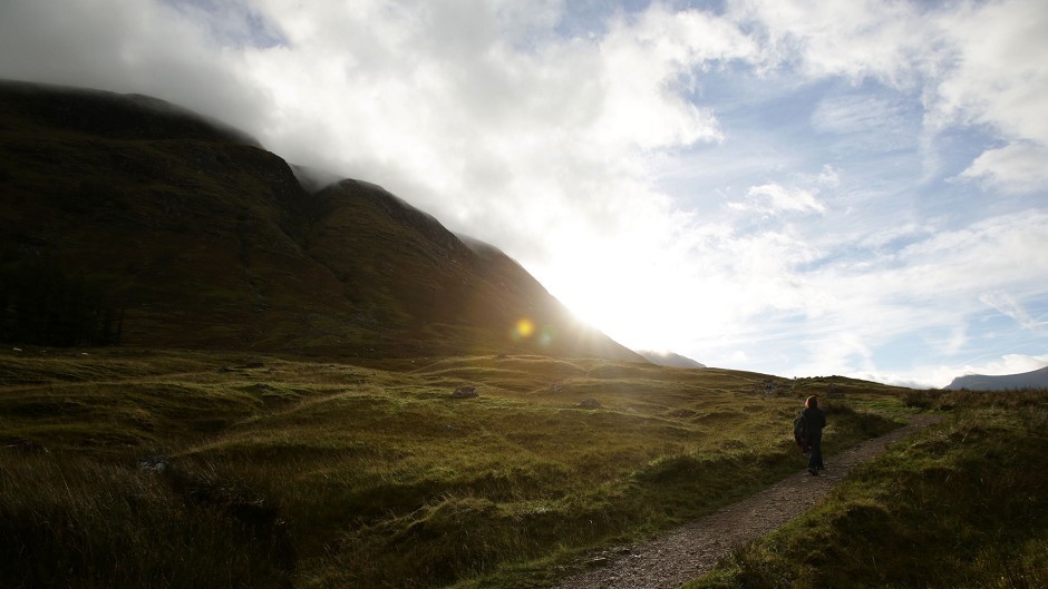
[{"label": "entire bright sky with clouds and blue patches above the land", "polygon": [[1048,3],[4,0],[0,78],[379,184],[634,350],[1048,365]]}]

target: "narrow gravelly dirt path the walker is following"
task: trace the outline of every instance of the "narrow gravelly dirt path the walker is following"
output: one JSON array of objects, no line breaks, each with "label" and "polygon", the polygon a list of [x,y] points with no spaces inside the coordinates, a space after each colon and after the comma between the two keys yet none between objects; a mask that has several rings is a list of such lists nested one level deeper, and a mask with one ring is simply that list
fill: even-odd
[{"label": "narrow gravelly dirt path the walker is following", "polygon": [[867,440],[826,460],[826,470],[807,470],[712,516],[649,542],[620,547],[594,557],[586,570],[569,577],[559,589],[671,589],[712,569],[734,549],[799,516],[841,482],[856,464],[884,452],[889,444],[938,421],[920,415],[908,425]]}]

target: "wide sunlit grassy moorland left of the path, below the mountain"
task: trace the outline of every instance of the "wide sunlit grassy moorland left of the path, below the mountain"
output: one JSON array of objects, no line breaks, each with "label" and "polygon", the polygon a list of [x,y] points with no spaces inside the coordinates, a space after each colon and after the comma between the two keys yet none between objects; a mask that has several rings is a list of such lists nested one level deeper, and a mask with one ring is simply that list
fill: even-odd
[{"label": "wide sunlit grassy moorland left of the path, below the mountain", "polygon": [[[586,547],[796,470],[789,416],[821,383],[755,393],[766,379],[541,356],[8,353],[0,585],[542,586]],[[465,384],[479,396],[449,397]],[[851,386],[829,448],[902,412],[894,390]],[[156,455],[164,472],[136,465]]]}]

